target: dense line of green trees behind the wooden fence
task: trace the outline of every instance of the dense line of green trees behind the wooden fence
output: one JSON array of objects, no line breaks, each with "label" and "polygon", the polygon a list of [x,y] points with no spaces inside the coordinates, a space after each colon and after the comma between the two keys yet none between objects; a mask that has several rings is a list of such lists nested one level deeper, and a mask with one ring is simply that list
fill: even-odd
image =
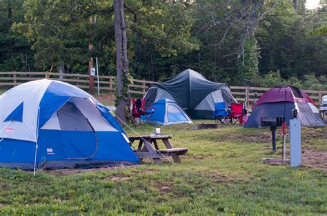
[{"label": "dense line of green trees behind the wooden fence", "polygon": [[[129,72],[160,81],[191,68],[230,85],[326,89],[326,2],[305,3],[126,0]],[[114,22],[112,0],[0,1],[0,70],[88,74],[92,55],[115,75]]]}]

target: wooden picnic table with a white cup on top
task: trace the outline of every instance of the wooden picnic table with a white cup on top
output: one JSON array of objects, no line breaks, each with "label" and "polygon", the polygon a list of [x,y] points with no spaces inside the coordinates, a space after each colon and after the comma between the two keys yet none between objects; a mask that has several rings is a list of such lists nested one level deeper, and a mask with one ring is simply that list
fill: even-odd
[{"label": "wooden picnic table with a white cup on top", "polygon": [[[179,155],[185,155],[188,152],[188,148],[174,148],[169,141],[172,138],[171,135],[130,136],[129,138],[132,143],[139,140],[139,145],[135,149],[139,159],[150,158],[155,161],[155,164],[161,164],[161,159],[168,156],[171,156],[174,162],[181,162]],[[159,149],[157,140],[164,142],[166,149]]]}]

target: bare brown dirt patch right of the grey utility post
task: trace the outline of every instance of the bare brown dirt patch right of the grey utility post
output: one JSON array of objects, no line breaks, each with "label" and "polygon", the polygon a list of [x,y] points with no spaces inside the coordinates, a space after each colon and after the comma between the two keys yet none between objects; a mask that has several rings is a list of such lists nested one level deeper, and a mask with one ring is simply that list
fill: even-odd
[{"label": "bare brown dirt patch right of the grey utility post", "polygon": [[327,151],[326,150],[308,150],[302,151],[302,164],[313,166],[327,171]]}]

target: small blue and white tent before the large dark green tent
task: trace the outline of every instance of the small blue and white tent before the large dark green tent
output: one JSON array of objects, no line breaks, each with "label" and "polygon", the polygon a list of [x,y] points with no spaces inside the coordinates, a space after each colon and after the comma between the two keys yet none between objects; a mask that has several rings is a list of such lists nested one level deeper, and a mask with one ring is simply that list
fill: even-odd
[{"label": "small blue and white tent before the large dark green tent", "polygon": [[[170,99],[161,99],[155,102],[151,107],[155,112],[147,121],[151,125],[175,125],[175,124],[192,124],[192,120],[188,117],[175,101]],[[141,120],[146,120],[142,116]]]}]

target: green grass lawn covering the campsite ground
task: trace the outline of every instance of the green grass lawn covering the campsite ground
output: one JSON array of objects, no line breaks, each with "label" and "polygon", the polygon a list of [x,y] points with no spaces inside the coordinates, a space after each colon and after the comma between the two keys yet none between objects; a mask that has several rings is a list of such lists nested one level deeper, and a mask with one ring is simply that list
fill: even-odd
[{"label": "green grass lawn covering the campsite ground", "polygon": [[[268,129],[194,125],[161,127],[175,147],[188,147],[181,164],[165,162],[73,175],[0,169],[0,215],[327,214],[326,170],[269,166]],[[211,121],[212,122],[212,121]],[[134,127],[141,134],[155,127]],[[132,131],[126,130],[130,136]],[[327,150],[325,129],[304,129],[304,149]],[[281,141],[280,136],[278,136]]]}]

